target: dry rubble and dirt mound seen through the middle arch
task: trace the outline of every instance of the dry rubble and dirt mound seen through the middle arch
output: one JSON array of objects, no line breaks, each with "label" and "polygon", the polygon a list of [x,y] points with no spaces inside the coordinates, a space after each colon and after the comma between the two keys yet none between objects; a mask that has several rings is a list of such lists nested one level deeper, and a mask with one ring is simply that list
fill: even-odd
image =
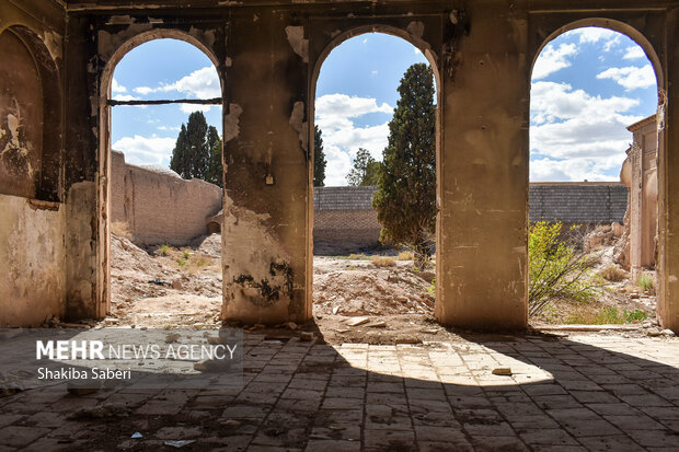
[{"label": "dry rubble and dirt mound seen through the middle arch", "polygon": [[313,310],[330,315],[430,314],[430,275],[411,262],[378,267],[366,260],[315,258]]}]

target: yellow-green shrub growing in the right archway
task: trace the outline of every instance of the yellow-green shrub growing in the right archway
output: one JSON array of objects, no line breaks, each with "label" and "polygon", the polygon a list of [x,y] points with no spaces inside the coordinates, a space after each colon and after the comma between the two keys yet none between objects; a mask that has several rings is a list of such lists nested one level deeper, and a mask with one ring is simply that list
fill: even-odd
[{"label": "yellow-green shrub growing in the right archway", "polygon": [[561,223],[537,222],[528,236],[528,313],[539,314],[553,299],[585,302],[598,283],[587,255],[560,240]]}]

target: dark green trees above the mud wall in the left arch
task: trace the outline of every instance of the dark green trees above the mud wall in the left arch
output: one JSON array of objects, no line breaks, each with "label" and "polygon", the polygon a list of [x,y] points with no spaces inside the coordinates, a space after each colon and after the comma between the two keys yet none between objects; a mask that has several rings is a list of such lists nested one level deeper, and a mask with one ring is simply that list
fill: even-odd
[{"label": "dark green trees above the mud wall in the left arch", "polygon": [[170,169],[183,178],[200,178],[222,186],[221,138],[203,112],[188,115],[180,130]]}]

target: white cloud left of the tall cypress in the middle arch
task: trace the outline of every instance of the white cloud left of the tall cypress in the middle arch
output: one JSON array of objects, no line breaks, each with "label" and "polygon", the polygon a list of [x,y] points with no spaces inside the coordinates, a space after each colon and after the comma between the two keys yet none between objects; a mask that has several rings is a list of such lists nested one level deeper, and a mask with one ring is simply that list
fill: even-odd
[{"label": "white cloud left of the tall cypress in the middle arch", "polygon": [[346,185],[346,175],[352,169],[352,158],[358,148],[365,148],[376,160],[382,160],[387,147],[389,126],[387,118],[377,126],[357,127],[354,118],[371,114],[393,114],[393,108],[370,97],[327,94],[315,102],[315,124],[323,132],[323,150],[327,166],[325,185]]}]

